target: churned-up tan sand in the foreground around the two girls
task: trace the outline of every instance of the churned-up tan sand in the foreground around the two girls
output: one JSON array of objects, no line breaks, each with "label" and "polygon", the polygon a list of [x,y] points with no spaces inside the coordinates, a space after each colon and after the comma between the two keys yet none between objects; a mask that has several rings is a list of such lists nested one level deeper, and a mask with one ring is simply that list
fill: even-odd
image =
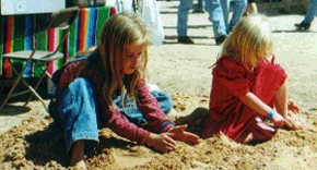
[{"label": "churned-up tan sand in the foreground around the two girls", "polygon": [[[206,114],[188,113],[198,107],[206,108],[208,95],[176,94],[173,99],[174,109],[184,116],[179,120],[188,123],[188,131],[200,134]],[[89,169],[315,169],[316,112],[300,113],[307,120],[309,130],[278,130],[272,141],[262,144],[240,145],[222,135],[196,146],[178,142],[178,149],[168,154],[137,145],[103,129],[101,144],[87,156],[86,163]],[[50,122],[50,117],[31,118],[2,134],[0,169],[71,169],[63,137],[49,127]]]}]

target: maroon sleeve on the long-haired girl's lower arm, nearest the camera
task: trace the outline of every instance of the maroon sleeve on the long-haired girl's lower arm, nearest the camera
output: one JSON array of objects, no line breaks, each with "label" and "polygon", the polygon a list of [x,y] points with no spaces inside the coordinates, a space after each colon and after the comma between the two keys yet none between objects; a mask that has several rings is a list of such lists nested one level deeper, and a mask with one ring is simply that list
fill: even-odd
[{"label": "maroon sleeve on the long-haired girl's lower arm, nearest the camera", "polygon": [[120,113],[119,109],[108,109],[106,114],[111,116],[107,126],[116,134],[130,141],[137,142],[140,145],[143,145],[146,142],[150,132],[131,123],[125,116]]}]

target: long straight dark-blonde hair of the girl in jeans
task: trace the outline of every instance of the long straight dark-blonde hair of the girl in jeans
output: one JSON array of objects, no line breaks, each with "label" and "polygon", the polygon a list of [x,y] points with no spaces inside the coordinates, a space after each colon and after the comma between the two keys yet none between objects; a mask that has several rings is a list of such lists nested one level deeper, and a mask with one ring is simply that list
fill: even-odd
[{"label": "long straight dark-blonde hair of the girl in jeans", "polygon": [[[125,58],[130,45],[143,46],[144,51],[136,71],[131,75],[126,75],[128,77],[124,81],[126,77],[124,73]],[[104,24],[99,33],[99,44],[86,60],[82,72],[99,65],[98,75],[101,77],[95,81],[98,88],[97,98],[105,101],[107,107],[114,107],[113,95],[117,89],[121,92],[121,95],[127,90],[131,98],[136,98],[137,83],[143,78],[148,64],[149,45],[149,29],[133,13],[116,14]]]}]

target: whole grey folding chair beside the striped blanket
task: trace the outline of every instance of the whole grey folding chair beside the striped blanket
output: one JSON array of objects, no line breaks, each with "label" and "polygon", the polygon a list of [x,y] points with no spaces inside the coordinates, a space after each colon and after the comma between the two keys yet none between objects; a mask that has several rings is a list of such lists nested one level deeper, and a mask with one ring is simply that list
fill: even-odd
[{"label": "whole grey folding chair beside the striped blanket", "polygon": [[[28,83],[23,78],[23,74],[24,74],[24,72],[26,70],[26,66],[31,62],[33,62],[34,64],[36,64],[36,62],[47,62],[48,63],[48,62],[56,61],[56,60],[59,60],[59,59],[63,58],[63,53],[59,52],[58,49],[61,47],[62,42],[64,41],[64,39],[66,39],[66,37],[68,35],[68,32],[69,32],[70,27],[73,25],[79,12],[80,12],[80,9],[78,7],[62,9],[62,10],[54,12],[51,14],[51,16],[50,16],[49,22],[48,22],[48,26],[43,32],[43,35],[40,36],[39,40],[36,42],[35,48],[33,50],[15,51],[15,52],[3,54],[3,59],[4,58],[9,59],[10,64],[12,65],[12,70],[17,76],[14,80],[14,83],[13,83],[11,89],[9,90],[7,97],[4,98],[3,102],[1,104],[0,110],[5,106],[5,104],[8,102],[9,98],[21,96],[21,95],[24,95],[26,93],[32,93],[32,94],[28,97],[28,99],[25,101],[24,107],[30,102],[30,100],[32,99],[33,96],[36,96],[42,101],[42,104],[44,105],[44,107],[47,110],[47,107],[46,107],[43,98],[37,94],[36,89],[39,86],[39,84],[40,84],[40,82],[42,82],[42,80],[44,77],[49,77],[50,78],[50,74],[47,72],[48,68],[47,66],[46,68],[42,68],[43,74],[42,74],[42,76],[39,77],[38,82],[35,84],[34,87],[28,85]],[[64,29],[64,34],[63,34],[62,40],[59,42],[59,45],[57,46],[55,51],[37,50],[42,39],[47,35],[49,28]],[[13,65],[11,60],[25,61],[24,68],[22,68],[21,72],[17,72],[16,69],[14,69],[14,65]],[[20,81],[28,89],[26,89],[24,92],[19,92],[19,93],[13,94],[13,92],[14,92],[16,85],[20,83]]]}]

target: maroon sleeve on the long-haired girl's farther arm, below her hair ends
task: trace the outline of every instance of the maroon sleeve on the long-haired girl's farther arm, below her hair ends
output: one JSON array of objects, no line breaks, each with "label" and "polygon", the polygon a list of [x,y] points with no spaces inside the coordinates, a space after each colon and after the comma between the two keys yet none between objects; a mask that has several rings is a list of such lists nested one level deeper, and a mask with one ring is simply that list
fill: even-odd
[{"label": "maroon sleeve on the long-haired girl's farther arm, below her hair ends", "polygon": [[171,122],[171,124],[166,125],[162,132],[174,126],[173,122],[162,111],[162,108],[158,106],[157,100],[154,97],[152,97],[144,82],[144,78],[139,81],[137,88],[138,88],[137,105],[142,114],[144,116],[144,118],[146,119],[149,126],[156,132],[161,132],[161,127],[164,122]]}]

